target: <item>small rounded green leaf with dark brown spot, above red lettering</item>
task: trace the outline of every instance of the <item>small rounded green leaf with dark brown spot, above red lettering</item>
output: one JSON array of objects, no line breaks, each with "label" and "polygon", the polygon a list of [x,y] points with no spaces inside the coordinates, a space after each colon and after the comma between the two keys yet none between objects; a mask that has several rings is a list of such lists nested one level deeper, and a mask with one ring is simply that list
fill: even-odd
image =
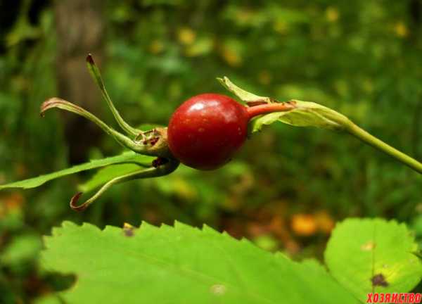
[{"label": "small rounded green leaf with dark brown spot, above red lettering", "polygon": [[325,252],[331,274],[357,298],[408,292],[422,278],[417,245],[404,224],[349,219],[335,227]]}]

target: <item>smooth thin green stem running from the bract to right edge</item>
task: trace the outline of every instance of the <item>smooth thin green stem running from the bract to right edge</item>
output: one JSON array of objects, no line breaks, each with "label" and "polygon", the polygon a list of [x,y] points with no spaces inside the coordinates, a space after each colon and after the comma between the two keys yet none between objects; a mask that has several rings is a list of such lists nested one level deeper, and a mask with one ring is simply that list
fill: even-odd
[{"label": "smooth thin green stem running from the bract to right edge", "polygon": [[396,148],[385,144],[384,141],[381,141],[381,139],[378,139],[373,135],[369,134],[364,129],[355,125],[353,122],[350,122],[349,124],[345,125],[345,131],[349,132],[361,141],[364,141],[366,144],[369,144],[370,146],[373,146],[374,148],[383,151],[389,156],[392,156],[396,160],[399,160],[399,162],[404,163],[404,165],[407,165],[408,167],[411,167],[411,169],[415,170],[416,172],[422,174],[422,163],[418,162],[418,160],[414,158],[411,158],[407,154],[398,151]]}]

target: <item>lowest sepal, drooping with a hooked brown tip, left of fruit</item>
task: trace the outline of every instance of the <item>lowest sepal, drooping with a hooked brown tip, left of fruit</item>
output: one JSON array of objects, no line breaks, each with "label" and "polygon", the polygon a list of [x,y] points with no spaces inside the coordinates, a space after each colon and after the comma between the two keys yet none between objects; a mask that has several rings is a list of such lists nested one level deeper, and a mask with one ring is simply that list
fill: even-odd
[{"label": "lowest sepal, drooping with a hooked brown tip, left of fruit", "polygon": [[82,196],[82,192],[75,194],[75,196],[73,196],[70,200],[70,208],[75,211],[83,211],[87,209],[87,207],[91,205],[91,203],[94,203],[94,201],[96,201],[96,199],[100,197],[101,194],[103,194],[107,189],[110,188],[110,186],[113,186],[114,184],[119,184],[120,182],[127,182],[132,179],[143,179],[147,177],[160,177],[163,175],[169,175],[174,170],[176,170],[178,166],[179,162],[177,160],[167,158],[156,158],[155,160],[153,160],[152,167],[137,170],[127,175],[122,175],[120,177],[115,177],[109,182],[106,182],[106,184],[104,184],[96,192],[96,194],[94,194],[94,196],[91,196],[91,198],[89,198],[82,204],[77,204],[79,198]]}]

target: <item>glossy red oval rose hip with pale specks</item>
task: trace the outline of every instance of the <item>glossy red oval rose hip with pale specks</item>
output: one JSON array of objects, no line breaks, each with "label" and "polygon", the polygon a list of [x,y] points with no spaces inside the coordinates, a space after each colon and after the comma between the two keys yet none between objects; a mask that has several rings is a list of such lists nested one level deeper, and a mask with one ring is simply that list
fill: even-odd
[{"label": "glossy red oval rose hip with pale specks", "polygon": [[170,118],[167,130],[170,151],[189,167],[217,169],[242,146],[248,120],[246,107],[228,96],[193,96]]}]

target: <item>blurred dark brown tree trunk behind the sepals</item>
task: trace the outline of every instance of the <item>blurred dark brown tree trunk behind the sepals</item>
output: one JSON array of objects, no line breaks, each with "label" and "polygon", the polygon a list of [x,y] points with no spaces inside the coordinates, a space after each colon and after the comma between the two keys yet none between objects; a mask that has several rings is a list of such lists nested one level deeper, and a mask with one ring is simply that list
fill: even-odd
[{"label": "blurred dark brown tree trunk behind the sepals", "polygon": [[[98,113],[101,94],[91,80],[85,57],[93,53],[96,63],[103,57],[103,18],[101,0],[55,1],[57,29],[58,96]],[[89,148],[98,144],[101,131],[92,122],[70,113],[64,114],[65,138],[70,163],[87,160]]]}]

